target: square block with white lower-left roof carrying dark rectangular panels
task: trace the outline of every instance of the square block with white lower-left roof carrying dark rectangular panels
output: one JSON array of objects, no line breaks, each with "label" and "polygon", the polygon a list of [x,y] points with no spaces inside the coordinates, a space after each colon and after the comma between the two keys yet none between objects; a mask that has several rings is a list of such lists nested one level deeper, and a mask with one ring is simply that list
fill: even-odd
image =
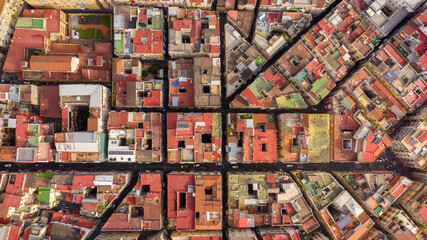
[{"label": "square block with white lower-left roof carrying dark rectangular panels", "polygon": [[108,160],[117,162],[161,162],[160,113],[110,112]]}]

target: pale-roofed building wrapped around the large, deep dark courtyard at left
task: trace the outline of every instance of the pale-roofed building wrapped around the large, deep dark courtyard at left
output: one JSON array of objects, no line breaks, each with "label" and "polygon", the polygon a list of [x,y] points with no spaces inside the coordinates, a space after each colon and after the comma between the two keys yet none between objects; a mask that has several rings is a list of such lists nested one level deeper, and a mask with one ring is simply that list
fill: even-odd
[{"label": "pale-roofed building wrapped around the large, deep dark courtyard at left", "polygon": [[62,133],[55,133],[57,161],[107,161],[109,89],[60,85]]}]

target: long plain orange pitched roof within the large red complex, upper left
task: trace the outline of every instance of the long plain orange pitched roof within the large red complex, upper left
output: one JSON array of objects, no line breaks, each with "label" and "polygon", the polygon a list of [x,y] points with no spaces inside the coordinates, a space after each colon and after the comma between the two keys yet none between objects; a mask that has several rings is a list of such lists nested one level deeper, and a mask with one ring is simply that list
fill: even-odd
[{"label": "long plain orange pitched roof within the large red complex, upper left", "polygon": [[73,56],[32,56],[30,59],[30,68],[35,71],[63,71],[72,70],[71,61]]}]

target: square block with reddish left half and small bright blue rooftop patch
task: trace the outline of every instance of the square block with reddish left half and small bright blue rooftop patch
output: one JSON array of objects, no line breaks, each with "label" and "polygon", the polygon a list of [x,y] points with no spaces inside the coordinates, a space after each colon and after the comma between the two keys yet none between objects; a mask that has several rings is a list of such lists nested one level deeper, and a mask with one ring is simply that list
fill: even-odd
[{"label": "square block with reddish left half and small bright blue rooftop patch", "polygon": [[169,61],[169,106],[220,107],[220,58],[195,57]]}]

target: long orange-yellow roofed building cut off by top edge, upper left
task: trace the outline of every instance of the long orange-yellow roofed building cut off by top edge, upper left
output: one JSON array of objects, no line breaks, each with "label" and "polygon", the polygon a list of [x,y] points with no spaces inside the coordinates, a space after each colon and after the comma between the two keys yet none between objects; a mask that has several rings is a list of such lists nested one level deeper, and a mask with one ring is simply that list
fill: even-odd
[{"label": "long orange-yellow roofed building cut off by top edge, upper left", "polygon": [[50,8],[50,9],[61,9],[61,10],[100,10],[101,6],[97,0],[72,0],[72,1],[61,1],[61,0],[48,0],[48,1],[37,1],[37,0],[25,0],[33,8]]}]

